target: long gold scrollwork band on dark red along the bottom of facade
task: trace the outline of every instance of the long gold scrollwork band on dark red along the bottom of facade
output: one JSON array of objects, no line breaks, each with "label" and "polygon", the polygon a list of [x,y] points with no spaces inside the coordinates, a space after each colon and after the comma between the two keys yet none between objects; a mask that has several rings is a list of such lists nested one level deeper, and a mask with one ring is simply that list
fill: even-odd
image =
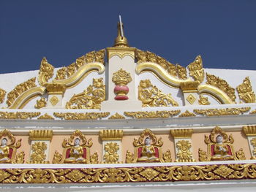
[{"label": "long gold scrollwork band on dark red along the bottom of facade", "polygon": [[[252,180],[255,164],[137,166],[104,169],[0,169],[0,183],[145,183]],[[68,177],[64,177],[68,175]]]}]

